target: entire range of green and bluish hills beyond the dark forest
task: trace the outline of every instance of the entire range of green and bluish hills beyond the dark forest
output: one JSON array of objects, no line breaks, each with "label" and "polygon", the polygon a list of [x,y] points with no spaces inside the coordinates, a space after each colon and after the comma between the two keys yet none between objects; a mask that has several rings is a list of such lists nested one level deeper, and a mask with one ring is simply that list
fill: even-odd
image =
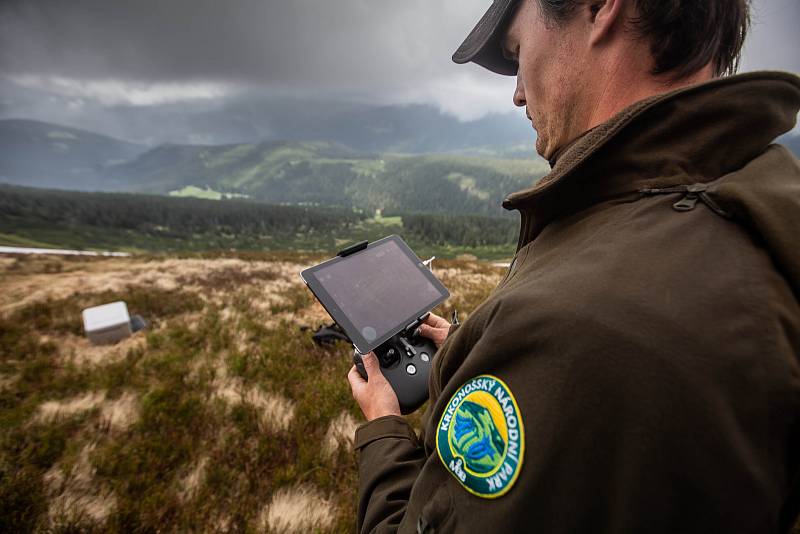
[{"label": "entire range of green and bluish hills beyond the dark forest", "polygon": [[[530,187],[549,170],[541,159],[519,157],[515,145],[469,146],[469,136],[448,141],[451,146],[460,144],[458,150],[413,153],[426,145],[424,135],[409,127],[415,121],[422,124],[425,117],[409,117],[390,128],[391,135],[382,138],[376,132],[371,141],[368,136],[359,138],[358,128],[343,127],[351,136],[344,137],[356,149],[339,141],[300,140],[149,147],[45,122],[0,120],[0,182],[83,191],[228,195],[383,213],[503,216],[502,199]],[[330,126],[324,120],[321,124]],[[333,135],[324,128],[317,134]],[[800,154],[800,136],[783,136],[779,142]],[[396,146],[409,150],[389,150]]]}]

